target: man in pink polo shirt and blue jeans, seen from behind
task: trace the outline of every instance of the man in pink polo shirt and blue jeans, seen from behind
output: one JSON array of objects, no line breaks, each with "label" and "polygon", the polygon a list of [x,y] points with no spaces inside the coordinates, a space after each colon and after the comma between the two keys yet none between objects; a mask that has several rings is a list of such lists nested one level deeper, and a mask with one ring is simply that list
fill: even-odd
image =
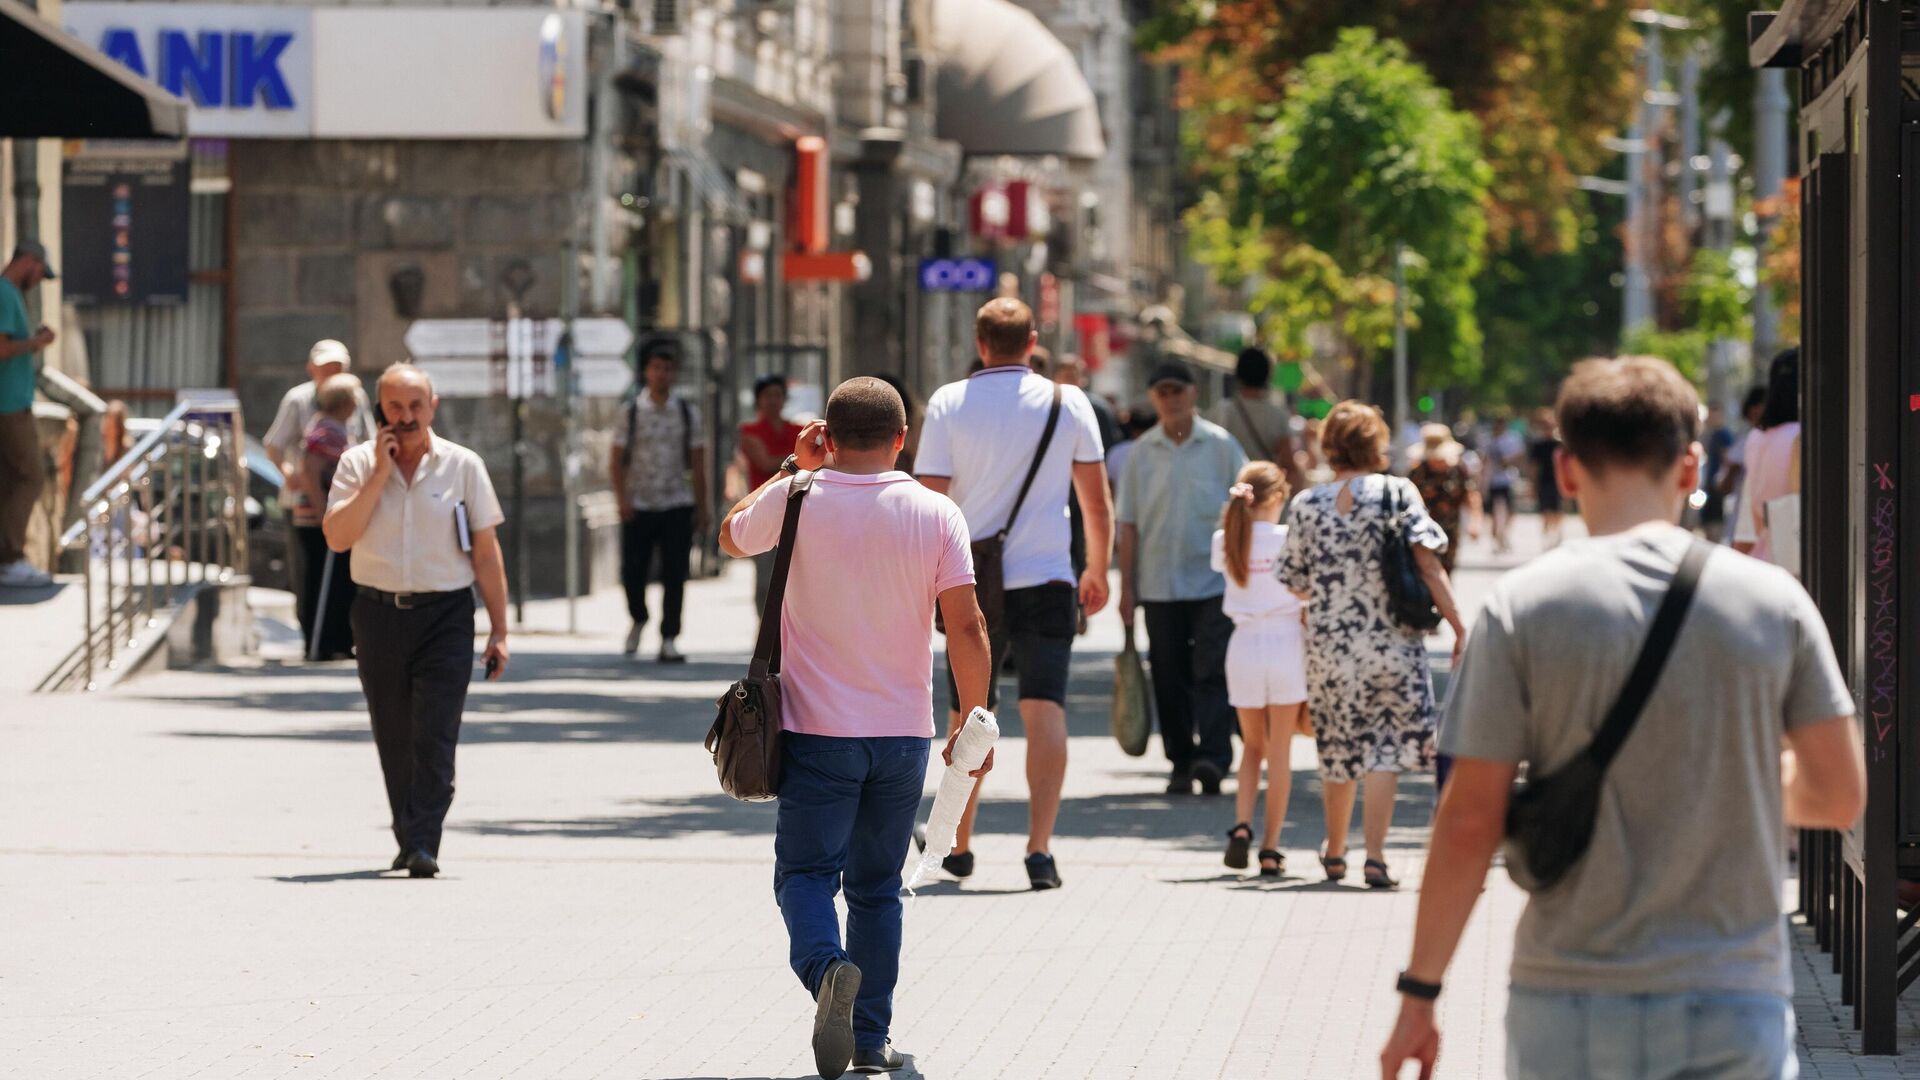
[{"label": "man in pink polo shirt and blue jeans, seen from behind", "polygon": [[[849,1065],[891,1072],[904,1063],[887,1032],[900,972],[900,867],[933,738],[935,603],[962,715],[987,703],[987,623],[973,600],[966,519],[893,469],[904,442],[900,396],[879,379],[849,379],[826,421],[801,430],[793,455],[720,528],[720,548],[735,559],[770,552],[789,477],[816,471],[780,613],[787,734],[774,899],[793,972],[814,995],[814,1065],[826,1080]],[[975,776],[989,769],[991,753]]]}]

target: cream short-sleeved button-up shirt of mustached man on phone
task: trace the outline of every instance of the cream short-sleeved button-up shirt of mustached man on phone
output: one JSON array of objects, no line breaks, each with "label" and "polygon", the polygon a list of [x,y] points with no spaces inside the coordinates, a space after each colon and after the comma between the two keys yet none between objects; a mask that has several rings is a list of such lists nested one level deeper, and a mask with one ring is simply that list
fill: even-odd
[{"label": "cream short-sleeved button-up shirt of mustached man on phone", "polygon": [[[340,455],[326,505],[351,498],[372,477],[372,442]],[[426,455],[413,482],[399,465],[386,477],[380,503],[353,544],[353,582],[384,592],[453,592],[474,582],[472,555],[461,550],[455,507],[467,507],[470,532],[493,528],[499,509],[480,455],[428,432]]]}]

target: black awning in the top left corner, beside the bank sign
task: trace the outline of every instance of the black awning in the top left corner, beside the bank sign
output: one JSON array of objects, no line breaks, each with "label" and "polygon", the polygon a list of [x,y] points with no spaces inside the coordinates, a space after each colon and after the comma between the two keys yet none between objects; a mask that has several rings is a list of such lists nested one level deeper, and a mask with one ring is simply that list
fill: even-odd
[{"label": "black awning in the top left corner, beside the bank sign", "polygon": [[0,138],[184,138],[186,104],[0,0]]}]

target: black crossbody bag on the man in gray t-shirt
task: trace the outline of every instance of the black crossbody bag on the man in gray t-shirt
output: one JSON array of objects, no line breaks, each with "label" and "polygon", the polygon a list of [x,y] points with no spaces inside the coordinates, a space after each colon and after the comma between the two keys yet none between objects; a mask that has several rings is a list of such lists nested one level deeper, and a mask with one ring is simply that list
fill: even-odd
[{"label": "black crossbody bag on the man in gray t-shirt", "polygon": [[1667,669],[1667,657],[1680,636],[1693,592],[1699,588],[1699,573],[1707,565],[1713,546],[1693,540],[1680,569],[1674,573],[1667,596],[1661,598],[1653,626],[1647,630],[1640,657],[1626,676],[1626,688],[1615,700],[1607,719],[1594,734],[1594,742],[1572,761],[1540,776],[1526,780],[1513,790],[1507,805],[1507,874],[1526,892],[1544,892],[1559,884],[1586,855],[1594,844],[1594,822],[1599,819],[1599,790],[1607,778],[1607,767],[1620,753],[1634,723],[1647,707],[1647,698]]}]

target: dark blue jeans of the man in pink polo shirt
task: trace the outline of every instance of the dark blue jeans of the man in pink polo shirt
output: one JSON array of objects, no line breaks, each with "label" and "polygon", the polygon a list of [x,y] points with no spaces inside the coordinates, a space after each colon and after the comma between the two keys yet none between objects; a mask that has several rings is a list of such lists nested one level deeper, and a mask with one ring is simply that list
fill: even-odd
[{"label": "dark blue jeans of the man in pink polo shirt", "polygon": [[[924,738],[787,732],[774,826],[774,899],[789,963],[808,994],[833,961],[860,969],[852,1003],[858,1049],[887,1045],[900,978],[900,867],[927,776]],[[847,947],[833,894],[847,888]]]}]

